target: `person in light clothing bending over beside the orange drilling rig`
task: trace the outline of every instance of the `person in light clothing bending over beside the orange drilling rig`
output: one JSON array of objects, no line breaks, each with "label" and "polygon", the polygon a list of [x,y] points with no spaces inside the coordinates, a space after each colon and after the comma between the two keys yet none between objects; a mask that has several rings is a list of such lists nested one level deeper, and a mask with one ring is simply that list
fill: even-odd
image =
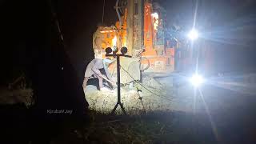
[{"label": "person in light clothing bending over beside the orange drilling rig", "polygon": [[[109,58],[94,58],[86,67],[85,78],[82,84],[84,90],[86,90],[87,81],[91,76],[94,76],[94,78],[98,78],[99,90],[104,90],[102,89],[103,79],[114,85],[114,81],[112,80],[112,78],[110,78],[110,73],[108,70],[108,66],[112,62],[114,61],[110,60]],[[102,69],[105,71],[106,75],[101,73]]]}]

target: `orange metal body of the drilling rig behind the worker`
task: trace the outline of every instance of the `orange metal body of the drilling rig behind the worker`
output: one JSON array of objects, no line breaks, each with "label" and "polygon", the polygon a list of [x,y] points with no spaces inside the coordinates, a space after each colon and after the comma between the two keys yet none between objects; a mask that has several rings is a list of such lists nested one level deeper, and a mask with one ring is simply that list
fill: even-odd
[{"label": "orange metal body of the drilling rig behind the worker", "polygon": [[[141,64],[148,65],[148,72],[156,72],[156,73],[169,73],[174,71],[174,47],[170,47],[166,43],[162,42],[162,44],[157,45],[157,37],[158,30],[154,29],[154,22],[156,20],[153,18],[153,6],[150,2],[143,2],[142,8],[142,34],[140,38],[142,38],[142,46],[143,49],[142,54],[140,54]],[[133,32],[134,27],[129,27],[130,23],[127,24],[130,18],[136,18],[136,16],[129,17],[129,7],[126,7],[125,13],[122,15],[122,26],[120,26],[120,22],[116,22],[115,26],[99,26],[98,30],[94,33],[94,52],[96,58],[104,58],[105,57],[105,49],[107,47],[118,46],[120,49],[122,46],[126,46],[128,48],[128,54],[132,55],[136,58],[136,54],[138,51],[142,51],[138,48],[134,48],[134,41],[138,38],[138,33]],[[129,18],[128,18],[129,17]],[[163,18],[162,18],[163,19]],[[158,22],[161,18],[158,18]],[[134,21],[130,20],[130,21]],[[137,27],[137,28],[138,28]],[[162,29],[163,30],[163,29]],[[130,35],[129,35],[130,34]],[[114,42],[114,38],[116,37],[117,41]],[[129,41],[129,37],[132,42]],[[163,38],[164,41],[164,38]],[[145,66],[147,67],[147,66]]]}]

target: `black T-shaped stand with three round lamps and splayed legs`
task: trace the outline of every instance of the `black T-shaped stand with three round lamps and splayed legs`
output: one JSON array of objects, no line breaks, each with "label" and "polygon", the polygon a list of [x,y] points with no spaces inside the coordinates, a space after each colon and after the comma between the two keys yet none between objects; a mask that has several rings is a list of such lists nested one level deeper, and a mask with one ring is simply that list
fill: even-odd
[{"label": "black T-shaped stand with three round lamps and splayed legs", "polygon": [[[122,47],[121,48],[121,54],[117,54],[118,53],[118,47],[114,47],[114,50],[112,50],[110,47],[106,48],[106,57],[114,57],[117,58],[117,74],[118,74],[118,102],[117,104],[114,106],[114,109],[112,110],[111,114],[114,114],[115,110],[118,108],[118,105],[121,106],[122,112],[123,114],[127,114],[125,108],[122,106],[122,102],[121,102],[121,90],[120,90],[120,57],[128,57],[131,58],[130,55],[126,55],[127,53],[127,48],[126,47]],[[110,54],[112,53],[113,54]]]}]

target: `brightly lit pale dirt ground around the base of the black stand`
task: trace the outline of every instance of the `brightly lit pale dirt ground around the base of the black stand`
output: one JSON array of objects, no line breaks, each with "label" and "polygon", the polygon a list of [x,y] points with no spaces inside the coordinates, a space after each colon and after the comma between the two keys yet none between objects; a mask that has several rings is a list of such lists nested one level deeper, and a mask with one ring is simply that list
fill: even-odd
[{"label": "brightly lit pale dirt ground around the base of the black stand", "polygon": [[[146,77],[141,84],[132,82],[122,86],[121,101],[129,114],[152,110],[192,110],[192,97],[178,97],[178,95],[175,95],[175,90],[174,86]],[[114,90],[97,90],[96,86],[90,85],[86,87],[85,95],[91,110],[106,114],[110,113],[117,102],[116,88]],[[120,110],[119,108],[118,114]]]}]

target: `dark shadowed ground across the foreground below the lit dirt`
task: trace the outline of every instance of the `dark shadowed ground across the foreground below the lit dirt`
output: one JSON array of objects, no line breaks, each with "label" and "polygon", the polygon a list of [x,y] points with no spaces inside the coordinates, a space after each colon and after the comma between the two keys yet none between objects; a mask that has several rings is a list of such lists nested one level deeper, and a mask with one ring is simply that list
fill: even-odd
[{"label": "dark shadowed ground across the foreground below the lit dirt", "polygon": [[[245,112],[246,111],[246,112]],[[89,119],[36,119],[22,104],[1,106],[8,143],[254,143],[251,107],[218,114],[154,111],[130,116],[89,112]],[[65,119],[65,120],[64,120]],[[4,131],[5,130],[5,131]]]}]

